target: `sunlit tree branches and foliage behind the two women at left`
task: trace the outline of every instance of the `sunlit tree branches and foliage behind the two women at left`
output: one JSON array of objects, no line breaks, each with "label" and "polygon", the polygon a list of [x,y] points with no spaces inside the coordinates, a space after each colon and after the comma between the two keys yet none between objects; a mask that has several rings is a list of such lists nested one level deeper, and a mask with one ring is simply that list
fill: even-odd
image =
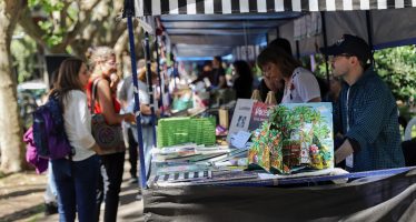
[{"label": "sunlit tree branches and foliage behind the two women at left", "polygon": [[[128,51],[128,32],[126,21],[120,19],[122,7],[122,1],[111,0],[27,1],[14,32],[19,38],[12,41],[19,82],[41,78],[41,58],[49,53],[86,59],[88,48],[109,46],[123,62],[121,54]],[[142,57],[141,32],[137,29],[136,33],[136,54]]]}]

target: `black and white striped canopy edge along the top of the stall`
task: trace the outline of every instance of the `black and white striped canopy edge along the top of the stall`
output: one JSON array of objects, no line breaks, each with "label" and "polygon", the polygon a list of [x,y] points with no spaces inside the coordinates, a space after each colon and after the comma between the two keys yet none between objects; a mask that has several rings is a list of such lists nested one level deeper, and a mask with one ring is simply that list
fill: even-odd
[{"label": "black and white striped canopy edge along the top of the stall", "polygon": [[281,11],[351,11],[416,7],[416,0],[135,0],[137,17]]}]

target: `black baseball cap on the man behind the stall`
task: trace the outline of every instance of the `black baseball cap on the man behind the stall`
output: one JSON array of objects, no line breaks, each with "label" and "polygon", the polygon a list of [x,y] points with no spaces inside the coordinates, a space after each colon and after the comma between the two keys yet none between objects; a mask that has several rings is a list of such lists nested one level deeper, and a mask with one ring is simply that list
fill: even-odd
[{"label": "black baseball cap on the man behind the stall", "polygon": [[326,56],[355,56],[364,63],[367,63],[372,58],[372,49],[367,42],[364,39],[351,34],[343,34],[343,37],[333,46],[320,48],[319,50]]}]

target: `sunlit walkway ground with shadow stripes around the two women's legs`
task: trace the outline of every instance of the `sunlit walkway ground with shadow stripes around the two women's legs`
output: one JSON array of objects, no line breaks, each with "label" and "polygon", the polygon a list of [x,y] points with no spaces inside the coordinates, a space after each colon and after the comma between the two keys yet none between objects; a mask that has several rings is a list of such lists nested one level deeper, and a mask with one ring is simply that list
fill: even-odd
[{"label": "sunlit walkway ground with shadow stripes around the two women's legs", "polygon": [[[126,162],[118,222],[143,221],[142,201],[137,200],[138,184],[130,184],[128,181],[129,173],[126,173],[129,168],[129,163]],[[0,179],[0,221],[59,221],[58,214],[49,216],[43,214],[46,181],[46,175],[37,175],[34,172],[19,173]],[[103,211],[100,215],[102,216],[102,214]]]}]

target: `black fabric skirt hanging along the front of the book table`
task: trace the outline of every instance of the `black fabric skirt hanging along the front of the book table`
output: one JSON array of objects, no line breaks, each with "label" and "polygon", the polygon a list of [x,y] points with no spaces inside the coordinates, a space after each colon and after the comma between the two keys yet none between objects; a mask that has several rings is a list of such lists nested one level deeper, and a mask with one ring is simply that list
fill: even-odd
[{"label": "black fabric skirt hanging along the front of the book table", "polygon": [[416,170],[343,185],[143,191],[145,221],[416,221]]}]

